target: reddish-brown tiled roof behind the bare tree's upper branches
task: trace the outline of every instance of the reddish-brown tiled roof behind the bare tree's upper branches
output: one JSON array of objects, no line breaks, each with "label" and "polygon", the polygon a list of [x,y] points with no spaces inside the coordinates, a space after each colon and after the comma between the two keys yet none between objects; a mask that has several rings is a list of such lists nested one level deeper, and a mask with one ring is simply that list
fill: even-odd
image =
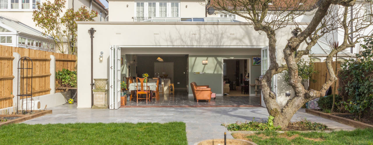
[{"label": "reddish-brown tiled roof behind the bare tree's upper branches", "polygon": [[[242,3],[245,1],[246,0],[210,0],[210,6],[214,7],[216,10],[223,10],[221,7],[219,7],[218,3],[220,3],[225,7],[228,7],[228,9],[239,10],[243,8]],[[299,9],[302,11],[309,11],[317,7],[317,1],[319,0],[273,0],[269,7],[270,10],[288,8],[288,10]]]}]

